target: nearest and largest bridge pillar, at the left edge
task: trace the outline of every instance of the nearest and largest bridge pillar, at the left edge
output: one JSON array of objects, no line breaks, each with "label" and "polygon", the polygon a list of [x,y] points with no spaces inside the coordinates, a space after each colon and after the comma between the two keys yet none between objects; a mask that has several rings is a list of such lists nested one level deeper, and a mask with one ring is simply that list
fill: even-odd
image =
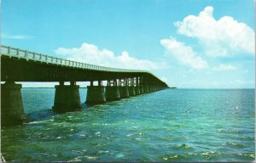
[{"label": "nearest and largest bridge pillar, at the left edge", "polygon": [[1,84],[1,126],[20,125],[25,121],[21,98],[21,84]]}]

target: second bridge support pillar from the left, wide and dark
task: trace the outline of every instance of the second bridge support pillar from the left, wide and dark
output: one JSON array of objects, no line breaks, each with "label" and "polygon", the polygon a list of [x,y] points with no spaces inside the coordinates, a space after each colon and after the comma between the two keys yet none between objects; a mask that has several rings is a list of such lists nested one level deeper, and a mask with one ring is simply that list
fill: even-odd
[{"label": "second bridge support pillar from the left, wide and dark", "polygon": [[79,86],[65,86],[64,82],[55,86],[55,104],[52,109],[56,112],[67,112],[81,109]]}]

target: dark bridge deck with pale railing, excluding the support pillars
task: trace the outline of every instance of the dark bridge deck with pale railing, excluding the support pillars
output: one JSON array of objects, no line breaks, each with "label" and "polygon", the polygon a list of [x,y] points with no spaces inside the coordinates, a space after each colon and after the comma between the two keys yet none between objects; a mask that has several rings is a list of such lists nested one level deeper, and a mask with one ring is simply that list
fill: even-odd
[{"label": "dark bridge deck with pale railing, excluding the support pillars", "polygon": [[59,59],[19,48],[1,46],[1,80],[14,82],[90,82],[143,77],[147,84],[167,87],[146,70],[126,70]]}]

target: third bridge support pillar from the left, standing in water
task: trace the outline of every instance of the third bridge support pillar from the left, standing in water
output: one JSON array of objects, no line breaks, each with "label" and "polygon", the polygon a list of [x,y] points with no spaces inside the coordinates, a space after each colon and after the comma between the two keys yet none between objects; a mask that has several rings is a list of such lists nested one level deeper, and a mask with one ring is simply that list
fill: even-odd
[{"label": "third bridge support pillar from the left, standing in water", "polygon": [[103,104],[106,103],[104,86],[88,86],[86,104]]}]

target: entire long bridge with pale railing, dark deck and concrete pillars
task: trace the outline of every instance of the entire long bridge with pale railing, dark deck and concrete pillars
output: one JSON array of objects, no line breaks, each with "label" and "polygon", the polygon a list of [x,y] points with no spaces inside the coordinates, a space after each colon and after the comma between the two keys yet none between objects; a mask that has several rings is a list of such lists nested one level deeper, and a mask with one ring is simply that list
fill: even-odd
[{"label": "entire long bridge with pale railing, dark deck and concrete pillars", "polygon": [[[167,87],[146,70],[90,65],[4,45],[1,45],[1,72],[1,81],[5,82],[1,84],[2,126],[22,124],[26,119],[20,92],[22,86],[15,82],[59,82],[55,86],[52,107],[56,112],[82,108],[76,82],[90,82],[86,104],[103,104]],[[103,86],[103,82],[107,86]]]}]

